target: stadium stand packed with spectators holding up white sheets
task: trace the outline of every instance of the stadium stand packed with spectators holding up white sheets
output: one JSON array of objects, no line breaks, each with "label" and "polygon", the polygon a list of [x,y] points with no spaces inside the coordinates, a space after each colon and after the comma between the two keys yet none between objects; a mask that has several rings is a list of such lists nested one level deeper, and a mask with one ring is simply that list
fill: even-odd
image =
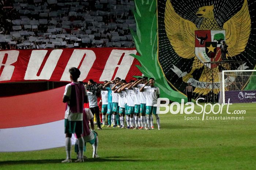
[{"label": "stadium stand packed with spectators holding up white sheets", "polygon": [[134,47],[131,0],[0,0],[0,50]]}]

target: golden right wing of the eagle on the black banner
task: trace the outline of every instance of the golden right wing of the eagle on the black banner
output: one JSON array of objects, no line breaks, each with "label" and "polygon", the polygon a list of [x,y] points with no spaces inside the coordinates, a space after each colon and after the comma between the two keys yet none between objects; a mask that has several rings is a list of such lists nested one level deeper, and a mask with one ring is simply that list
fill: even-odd
[{"label": "golden right wing of the eagle on the black banner", "polygon": [[241,10],[223,24],[223,29],[226,30],[229,56],[233,57],[243,52],[251,33],[251,18],[247,0],[244,0]]}]

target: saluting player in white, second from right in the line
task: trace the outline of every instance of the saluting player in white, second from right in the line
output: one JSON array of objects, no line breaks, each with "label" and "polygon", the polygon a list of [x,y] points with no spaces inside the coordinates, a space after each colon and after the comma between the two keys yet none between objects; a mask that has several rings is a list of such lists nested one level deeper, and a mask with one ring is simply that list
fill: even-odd
[{"label": "saluting player in white, second from right in the line", "polygon": [[[133,87],[142,88],[145,83],[147,83],[147,77],[143,77],[141,80],[136,80],[135,84],[133,84]],[[147,119],[146,119],[146,91],[140,92],[140,114],[141,114],[141,127],[140,129],[144,129],[147,126]]]}]

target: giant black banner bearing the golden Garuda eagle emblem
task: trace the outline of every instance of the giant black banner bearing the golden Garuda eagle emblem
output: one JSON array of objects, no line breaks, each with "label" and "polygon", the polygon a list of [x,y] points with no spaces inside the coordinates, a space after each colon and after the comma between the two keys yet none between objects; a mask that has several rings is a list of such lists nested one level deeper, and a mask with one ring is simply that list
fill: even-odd
[{"label": "giant black banner bearing the golden Garuda eagle emblem", "polygon": [[[190,82],[198,98],[212,89],[218,94],[221,69],[255,69],[255,5],[254,0],[158,0],[158,61],[170,86],[184,93]],[[223,41],[225,60],[242,65],[206,64],[222,61]]]}]

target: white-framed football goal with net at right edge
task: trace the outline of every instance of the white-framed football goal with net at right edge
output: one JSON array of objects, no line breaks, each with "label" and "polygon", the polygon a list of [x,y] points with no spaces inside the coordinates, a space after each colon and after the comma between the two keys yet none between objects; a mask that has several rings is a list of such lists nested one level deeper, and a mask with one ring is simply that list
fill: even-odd
[{"label": "white-framed football goal with net at right edge", "polygon": [[219,76],[219,103],[256,102],[256,70],[225,70]]}]

